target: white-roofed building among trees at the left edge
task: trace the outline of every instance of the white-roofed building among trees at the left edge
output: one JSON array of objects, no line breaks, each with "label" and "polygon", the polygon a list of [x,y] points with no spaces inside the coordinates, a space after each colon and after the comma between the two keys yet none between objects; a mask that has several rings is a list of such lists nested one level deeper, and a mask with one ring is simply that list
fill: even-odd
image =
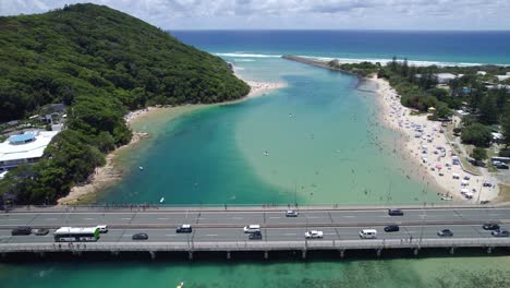
[{"label": "white-roofed building among trees at the left edge", "polygon": [[12,135],[0,143],[0,172],[14,169],[22,164],[36,163],[59,131],[32,131]]}]

